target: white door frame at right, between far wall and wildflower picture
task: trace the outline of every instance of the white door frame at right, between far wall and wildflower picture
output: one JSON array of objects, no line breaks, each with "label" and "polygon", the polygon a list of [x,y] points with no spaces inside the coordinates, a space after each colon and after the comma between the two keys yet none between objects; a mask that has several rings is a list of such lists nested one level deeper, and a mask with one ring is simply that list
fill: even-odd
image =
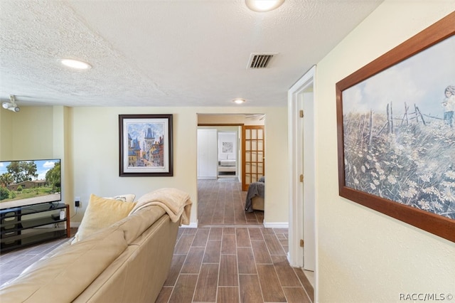
[{"label": "white door frame at right, between far wall and wildflower picture", "polygon": [[[300,174],[303,174],[303,151],[299,144],[303,138],[301,127],[300,109],[303,108],[301,93],[304,90],[315,87],[316,65],[300,78],[288,90],[288,137],[289,137],[289,264],[293,267],[303,267],[304,250],[300,247],[300,240],[304,239],[304,201],[303,184],[300,182]],[[315,96],[314,96],[315,97]],[[313,97],[313,99],[314,99]],[[316,144],[316,142],[315,142]],[[316,172],[315,172],[316,174]],[[316,186],[315,186],[316,187]],[[315,192],[315,201],[317,196]],[[314,255],[315,255],[315,277],[317,286],[318,275],[318,245],[317,245],[317,224],[316,206],[314,213]],[[308,227],[307,227],[308,228]],[[311,228],[311,227],[310,227]],[[313,249],[313,248],[311,248]],[[316,292],[315,292],[316,293]]]}]

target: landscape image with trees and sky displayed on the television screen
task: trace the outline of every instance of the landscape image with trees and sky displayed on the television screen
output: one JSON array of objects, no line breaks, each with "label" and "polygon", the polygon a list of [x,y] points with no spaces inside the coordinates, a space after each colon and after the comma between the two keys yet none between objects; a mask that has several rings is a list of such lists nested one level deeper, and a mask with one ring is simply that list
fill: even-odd
[{"label": "landscape image with trees and sky displayed on the television screen", "polygon": [[42,168],[38,168],[36,162],[11,161],[6,166],[6,172],[0,175],[0,201],[60,192],[60,161],[43,161]]}]

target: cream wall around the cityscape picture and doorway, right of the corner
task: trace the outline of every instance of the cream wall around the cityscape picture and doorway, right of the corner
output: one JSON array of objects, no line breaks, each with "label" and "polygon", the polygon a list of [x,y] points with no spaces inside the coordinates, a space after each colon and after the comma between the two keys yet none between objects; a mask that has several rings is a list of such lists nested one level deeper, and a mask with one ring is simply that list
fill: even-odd
[{"label": "cream wall around the cityscape picture and doorway, right of the corner", "polygon": [[[234,109],[236,110],[236,109]],[[257,109],[256,109],[257,110]],[[269,223],[287,222],[286,167],[279,151],[287,146],[287,110],[282,108],[259,109],[267,113],[266,153],[276,156],[266,166],[274,186],[267,188],[269,210],[264,220]],[[87,206],[90,193],[112,196],[135,193],[137,197],[161,187],[176,187],[190,193],[195,207],[191,222],[197,220],[197,119],[198,113],[230,112],[231,108],[198,107],[75,107],[72,138],[74,196],[80,196],[82,208]],[[250,112],[250,109],[242,108]],[[119,177],[118,115],[150,113],[173,114],[173,176],[172,177]],[[267,143],[266,143],[267,144]],[[272,158],[273,159],[273,158]],[[279,164],[279,165],[277,165]],[[283,177],[284,176],[284,177]],[[286,198],[286,199],[284,199]],[[285,202],[285,203],[283,203]],[[284,204],[284,205],[283,205]],[[77,215],[73,220],[80,221]]]}]

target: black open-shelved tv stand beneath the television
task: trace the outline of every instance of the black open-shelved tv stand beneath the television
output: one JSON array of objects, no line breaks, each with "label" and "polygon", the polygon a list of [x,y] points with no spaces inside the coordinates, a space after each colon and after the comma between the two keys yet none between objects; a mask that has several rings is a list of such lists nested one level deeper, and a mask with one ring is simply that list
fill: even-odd
[{"label": "black open-shelved tv stand beneath the television", "polygon": [[[65,218],[60,219],[60,211]],[[1,252],[70,237],[70,206],[65,203],[40,203],[0,210]],[[57,217],[58,216],[58,217]]]}]

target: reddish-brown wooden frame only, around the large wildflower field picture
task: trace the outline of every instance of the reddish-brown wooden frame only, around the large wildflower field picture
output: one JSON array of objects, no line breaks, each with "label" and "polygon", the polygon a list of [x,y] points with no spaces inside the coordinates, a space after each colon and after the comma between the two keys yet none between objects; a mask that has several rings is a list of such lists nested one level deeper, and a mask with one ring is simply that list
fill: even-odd
[{"label": "reddish-brown wooden frame only, around the large wildflower field picture", "polygon": [[438,235],[455,242],[455,220],[439,216],[434,213],[412,208],[395,201],[380,198],[370,193],[358,191],[346,186],[344,167],[344,140],[343,140],[343,90],[356,85],[363,80],[390,68],[392,65],[402,62],[446,38],[455,35],[455,12],[442,18],[437,23],[417,33],[417,35],[403,42],[396,48],[388,51],[360,70],[355,71],[348,77],[336,83],[336,115],[338,129],[338,188],[340,196],[387,216],[396,218],[429,233]]}]

